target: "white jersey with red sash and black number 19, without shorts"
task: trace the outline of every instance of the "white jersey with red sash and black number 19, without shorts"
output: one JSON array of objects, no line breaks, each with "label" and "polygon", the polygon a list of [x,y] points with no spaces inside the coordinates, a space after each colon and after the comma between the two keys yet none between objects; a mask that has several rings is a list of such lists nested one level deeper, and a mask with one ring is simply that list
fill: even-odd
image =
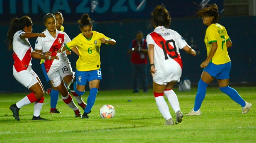
[{"label": "white jersey with red sash and black number 19, without shorts", "polygon": [[156,27],[154,32],[147,35],[147,45],[154,45],[155,67],[165,69],[163,63],[179,64],[182,68],[182,60],[179,49],[184,48],[187,42],[176,31],[163,26]]}]

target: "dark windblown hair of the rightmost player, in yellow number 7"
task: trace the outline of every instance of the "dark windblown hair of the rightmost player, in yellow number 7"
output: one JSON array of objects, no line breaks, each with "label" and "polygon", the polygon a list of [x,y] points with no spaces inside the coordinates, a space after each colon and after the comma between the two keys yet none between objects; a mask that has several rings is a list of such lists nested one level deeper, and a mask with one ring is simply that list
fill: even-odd
[{"label": "dark windblown hair of the rightmost player, in yellow number 7", "polygon": [[206,7],[199,10],[197,12],[197,15],[199,15],[200,17],[213,16],[212,23],[218,23],[218,21],[219,21],[218,6],[215,3],[214,4],[208,4]]}]

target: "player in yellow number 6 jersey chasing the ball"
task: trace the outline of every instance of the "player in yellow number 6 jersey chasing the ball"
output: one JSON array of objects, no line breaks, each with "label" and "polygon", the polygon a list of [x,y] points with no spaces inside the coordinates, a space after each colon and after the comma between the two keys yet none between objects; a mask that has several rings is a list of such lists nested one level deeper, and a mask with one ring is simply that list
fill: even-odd
[{"label": "player in yellow number 6 jersey chasing the ball", "polygon": [[93,23],[88,14],[83,14],[78,20],[82,33],[77,35],[72,41],[68,42],[57,52],[63,52],[66,49],[72,49],[76,46],[79,50],[79,59],[76,61],[75,78],[68,84],[69,90],[74,90],[77,95],[81,96],[85,92],[85,84],[88,80],[90,94],[87,98],[87,105],[82,118],[89,118],[96,95],[98,92],[100,80],[102,79],[100,68],[100,46],[101,44],[115,45],[116,41],[104,34],[93,31]]}]

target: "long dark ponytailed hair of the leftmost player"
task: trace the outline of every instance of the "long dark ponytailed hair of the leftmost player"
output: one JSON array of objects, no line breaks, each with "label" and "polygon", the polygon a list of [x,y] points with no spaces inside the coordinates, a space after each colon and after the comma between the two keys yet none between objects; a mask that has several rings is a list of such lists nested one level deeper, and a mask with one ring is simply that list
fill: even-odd
[{"label": "long dark ponytailed hair of the leftmost player", "polygon": [[29,27],[30,25],[32,25],[32,20],[29,16],[22,16],[20,18],[14,18],[12,19],[10,28],[7,32],[7,36],[8,36],[8,50],[11,50],[12,47],[12,42],[13,42],[13,36],[15,34],[15,32],[19,31],[19,30],[23,30],[23,28],[25,26]]}]

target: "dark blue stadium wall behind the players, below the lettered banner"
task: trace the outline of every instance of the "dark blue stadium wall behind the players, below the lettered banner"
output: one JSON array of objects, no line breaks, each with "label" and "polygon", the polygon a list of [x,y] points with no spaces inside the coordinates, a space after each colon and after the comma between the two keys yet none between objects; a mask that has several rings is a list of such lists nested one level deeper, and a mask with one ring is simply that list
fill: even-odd
[{"label": "dark blue stadium wall behind the players, below the lettered banner", "polygon": [[[230,83],[255,83],[256,77],[256,17],[222,17],[219,20],[228,31],[228,35],[233,42],[233,47],[228,49],[232,62],[230,72]],[[147,20],[127,20],[116,22],[95,22],[93,30],[101,32],[116,40],[115,46],[102,45],[100,49],[102,80],[100,90],[112,89],[132,89],[130,55],[127,54],[127,48],[131,40],[135,38],[138,30],[143,31],[144,37],[153,31],[153,28],[147,28]],[[77,23],[64,23],[65,32],[72,39],[80,33]],[[1,75],[0,92],[28,92],[28,90],[16,81],[12,74],[12,52],[7,51],[4,43],[8,24],[2,24],[0,31],[1,51]],[[42,23],[33,23],[33,32],[41,32],[44,29]],[[187,43],[197,51],[197,56],[193,57],[183,50],[180,50],[183,61],[183,73],[181,79],[188,77],[192,83],[199,81],[202,69],[199,67],[205,60],[207,53],[204,45],[204,34],[207,29],[202,24],[200,18],[172,18],[171,29],[179,32]],[[35,39],[29,39],[34,48]],[[73,70],[77,56],[69,56]],[[152,78],[148,66],[149,86],[152,85]],[[32,69],[38,74],[44,88],[49,88],[43,76],[40,60],[32,59]],[[216,83],[216,80],[214,81]]]}]

